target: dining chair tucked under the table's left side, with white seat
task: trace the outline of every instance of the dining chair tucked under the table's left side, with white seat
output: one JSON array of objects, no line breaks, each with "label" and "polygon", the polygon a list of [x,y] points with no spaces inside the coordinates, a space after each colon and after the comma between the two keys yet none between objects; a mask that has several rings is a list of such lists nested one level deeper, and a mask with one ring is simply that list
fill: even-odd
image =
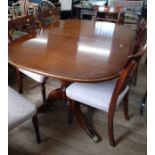
[{"label": "dining chair tucked under the table's left side, with white seat", "polygon": [[[17,37],[16,38],[13,37],[13,33],[11,32],[11,30],[16,29],[16,28],[21,28],[21,27],[23,28],[23,26],[26,26],[26,32],[29,33],[29,32],[35,31],[35,24],[36,24],[35,18],[33,17],[33,15],[28,15],[28,16],[14,19],[14,20],[10,20],[8,22],[8,29],[9,29],[8,35],[9,35],[10,42],[13,42],[14,40],[17,39]],[[22,36],[23,35],[25,35],[25,32],[24,32],[24,34],[22,33]],[[20,36],[18,36],[18,38],[22,37],[22,36],[20,35]],[[44,75],[41,75],[41,74],[33,73],[31,71],[27,71],[22,68],[16,68],[16,71],[17,71],[18,84],[19,84],[19,93],[23,92],[23,74],[25,74],[40,84],[43,103],[45,103],[46,102],[45,84],[46,84],[47,77]]]}]

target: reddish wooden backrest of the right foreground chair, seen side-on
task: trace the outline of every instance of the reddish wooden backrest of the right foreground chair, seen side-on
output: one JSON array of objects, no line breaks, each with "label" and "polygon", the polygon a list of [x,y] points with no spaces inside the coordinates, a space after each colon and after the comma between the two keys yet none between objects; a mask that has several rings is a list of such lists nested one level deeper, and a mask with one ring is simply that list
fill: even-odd
[{"label": "reddish wooden backrest of the right foreground chair, seen side-on", "polygon": [[124,69],[120,72],[119,78],[117,80],[116,86],[114,88],[113,91],[113,95],[112,95],[112,99],[111,99],[111,103],[110,103],[110,107],[109,110],[114,111],[115,107],[116,107],[116,103],[117,103],[117,99],[119,97],[119,95],[128,87],[130,86],[130,82],[132,80],[133,77],[133,73],[137,67],[137,65],[139,64],[139,61],[141,59],[141,57],[143,56],[143,54],[146,51],[146,45],[142,48],[142,51],[135,54],[135,55],[131,55],[129,56],[128,59],[128,63],[126,64],[126,66],[124,67]]}]

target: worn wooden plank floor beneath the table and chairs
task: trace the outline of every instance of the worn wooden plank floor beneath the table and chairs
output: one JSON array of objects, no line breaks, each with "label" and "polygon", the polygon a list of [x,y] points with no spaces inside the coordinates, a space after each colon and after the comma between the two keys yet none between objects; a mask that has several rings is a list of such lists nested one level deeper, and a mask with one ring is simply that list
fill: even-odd
[{"label": "worn wooden plank floor beneath the table and chairs", "polygon": [[[130,120],[124,119],[120,106],[115,113],[114,131],[117,142],[111,147],[108,141],[107,113],[82,106],[87,120],[94,126],[102,140],[94,143],[74,119],[67,124],[66,103],[57,101],[48,112],[39,115],[41,144],[37,144],[31,120],[9,133],[9,155],[146,155],[147,113],[139,114],[140,103],[146,91],[147,68],[141,61],[137,85],[131,86],[129,95]],[[16,78],[9,79],[9,85],[17,90]],[[49,79],[47,94],[59,87],[59,81]],[[42,104],[40,87],[31,79],[24,79],[23,95],[34,104]]]}]

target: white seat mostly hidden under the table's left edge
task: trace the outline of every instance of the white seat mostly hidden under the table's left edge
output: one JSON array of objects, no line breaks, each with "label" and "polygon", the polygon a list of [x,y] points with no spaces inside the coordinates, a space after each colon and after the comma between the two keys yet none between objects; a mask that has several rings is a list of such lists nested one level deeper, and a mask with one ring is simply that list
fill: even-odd
[{"label": "white seat mostly hidden under the table's left edge", "polygon": [[30,78],[34,79],[35,81],[42,83],[44,81],[45,76],[37,73],[33,73],[24,69],[19,68],[19,71],[22,72],[23,74],[29,76]]}]

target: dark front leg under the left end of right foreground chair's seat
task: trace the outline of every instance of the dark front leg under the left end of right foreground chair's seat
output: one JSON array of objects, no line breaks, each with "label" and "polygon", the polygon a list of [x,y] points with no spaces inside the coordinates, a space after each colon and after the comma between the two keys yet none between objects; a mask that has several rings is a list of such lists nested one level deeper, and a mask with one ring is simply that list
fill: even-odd
[{"label": "dark front leg under the left end of right foreground chair's seat", "polygon": [[68,99],[68,125],[71,125],[74,117],[75,104],[71,99]]}]

